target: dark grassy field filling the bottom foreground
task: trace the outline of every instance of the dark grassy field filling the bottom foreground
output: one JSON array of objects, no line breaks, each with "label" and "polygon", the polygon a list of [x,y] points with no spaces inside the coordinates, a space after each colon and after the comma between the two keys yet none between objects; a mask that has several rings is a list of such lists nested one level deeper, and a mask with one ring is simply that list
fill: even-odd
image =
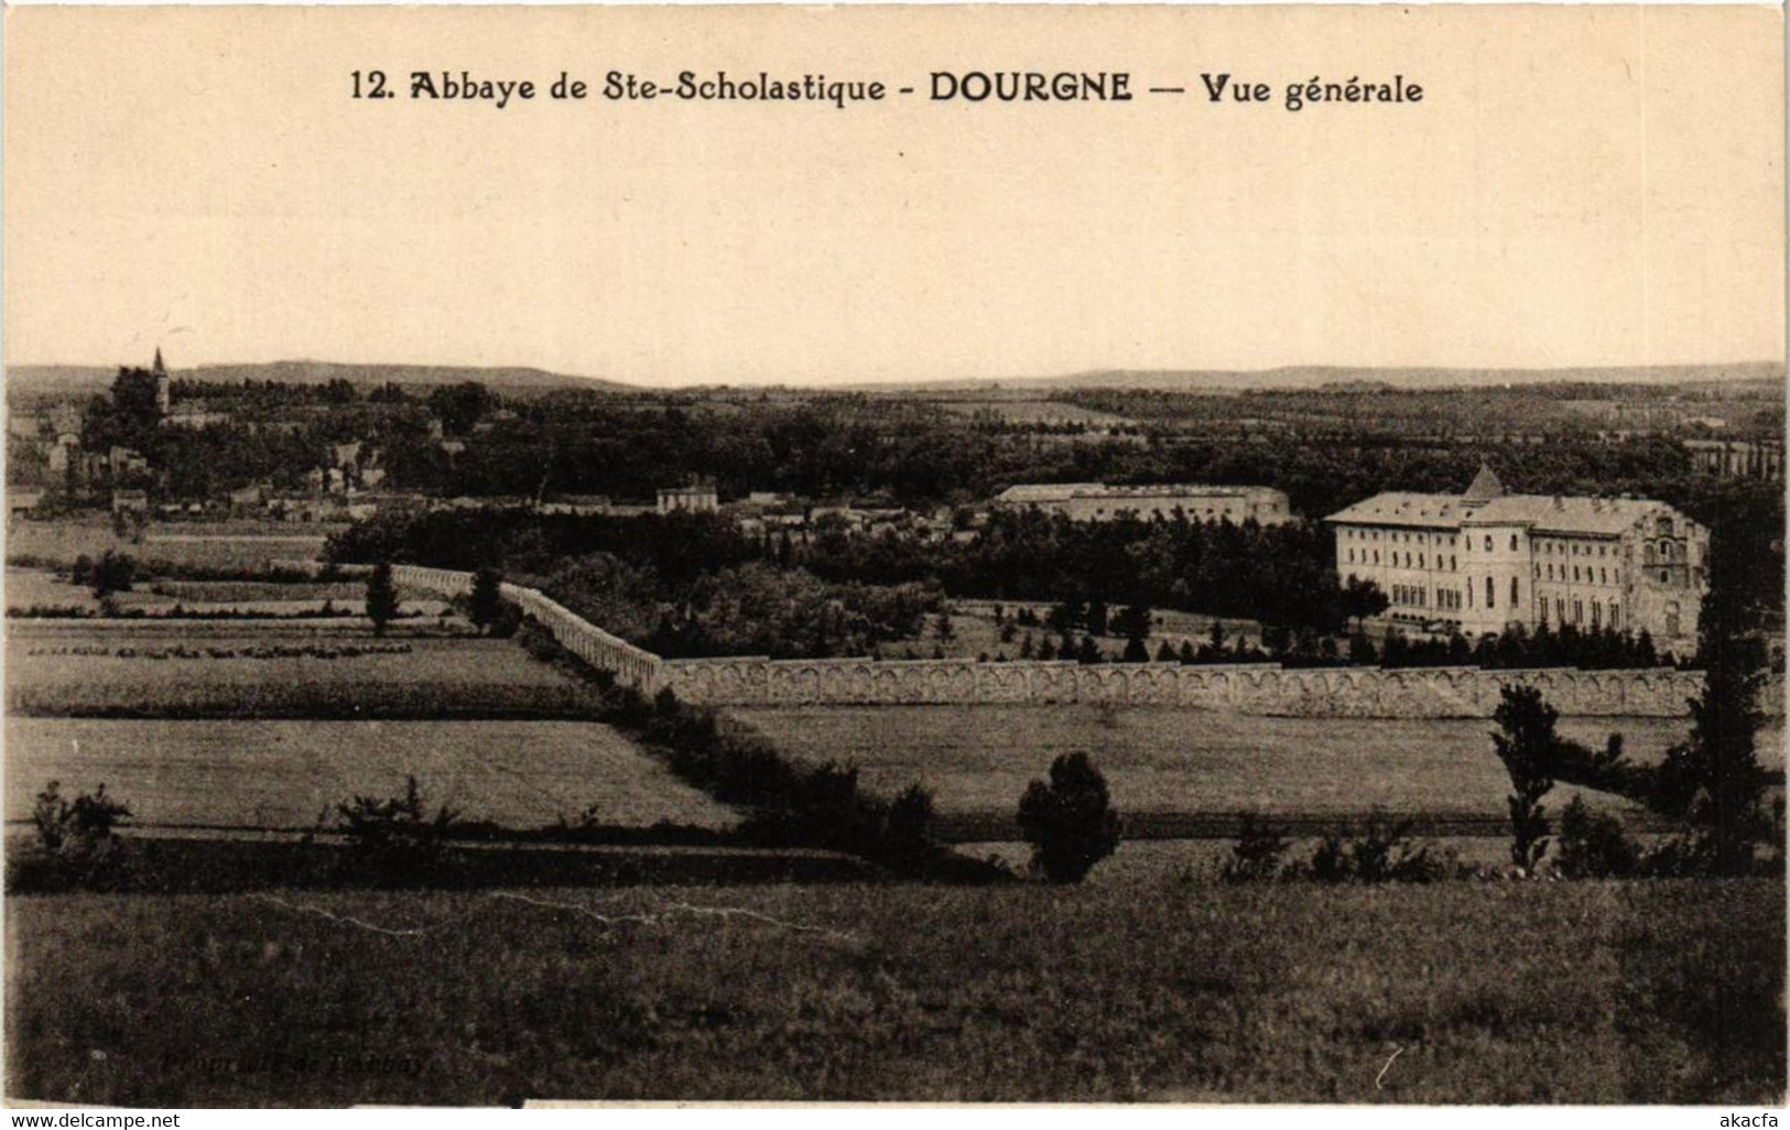
[{"label": "dark grassy field filling the bottom foreground", "polygon": [[1772,881],[13,897],[7,1073],[149,1107],[1756,1105],[1783,926]]}]

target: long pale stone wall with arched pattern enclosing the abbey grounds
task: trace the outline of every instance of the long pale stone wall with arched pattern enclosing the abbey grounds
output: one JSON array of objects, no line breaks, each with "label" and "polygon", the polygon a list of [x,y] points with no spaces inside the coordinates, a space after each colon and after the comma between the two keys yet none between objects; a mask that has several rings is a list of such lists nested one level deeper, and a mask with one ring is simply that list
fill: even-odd
[{"label": "long pale stone wall with arched pattern enclosing the abbey grounds", "polygon": [[[394,566],[392,578],[442,596],[473,587],[471,573],[422,566]],[[539,620],[569,652],[598,670],[614,672],[618,682],[643,695],[671,688],[678,698],[703,706],[1104,702],[1301,718],[1489,718],[1502,688],[1527,684],[1563,715],[1679,718],[1702,689],[1699,672],[1668,668],[1487,672],[1180,663],[1081,666],[1036,659],[666,661],[610,636],[535,589],[505,584],[503,595]],[[1761,707],[1770,716],[1781,716],[1783,698],[1783,675],[1772,675],[1761,693]]]}]

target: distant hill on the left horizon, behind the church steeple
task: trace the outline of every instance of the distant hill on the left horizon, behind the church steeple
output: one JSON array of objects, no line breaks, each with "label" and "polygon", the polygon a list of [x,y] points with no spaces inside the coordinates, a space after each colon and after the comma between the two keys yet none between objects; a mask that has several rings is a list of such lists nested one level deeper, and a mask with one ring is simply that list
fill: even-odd
[{"label": "distant hill on the left horizon, behind the church steeple", "polygon": [[[88,394],[111,387],[118,374],[115,367],[104,365],[13,365],[5,371],[7,392],[20,396]],[[197,380],[213,383],[285,381],[288,385],[324,385],[333,380],[345,380],[358,387],[376,387],[387,381],[412,389],[431,389],[435,385],[456,385],[460,381],[480,381],[482,385],[510,396],[539,396],[542,392],[560,392],[567,389],[589,389],[596,392],[634,392],[634,385],[603,381],[587,376],[566,376],[546,369],[494,367],[478,369],[471,365],[347,365],[337,362],[267,362],[258,365],[199,365],[193,369],[170,369],[175,380]]]}]

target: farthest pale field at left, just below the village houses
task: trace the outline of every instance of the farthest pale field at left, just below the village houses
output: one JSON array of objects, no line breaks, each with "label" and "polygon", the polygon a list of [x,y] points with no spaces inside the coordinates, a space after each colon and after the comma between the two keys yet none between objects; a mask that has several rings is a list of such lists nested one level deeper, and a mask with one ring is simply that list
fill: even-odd
[{"label": "farthest pale field at left, just below the village houses", "polygon": [[265,568],[272,561],[313,561],[340,526],[295,523],[149,523],[141,541],[120,539],[109,521],[20,521],[7,528],[7,561],[68,568],[82,553],[129,553],[140,562],[202,568]]}]

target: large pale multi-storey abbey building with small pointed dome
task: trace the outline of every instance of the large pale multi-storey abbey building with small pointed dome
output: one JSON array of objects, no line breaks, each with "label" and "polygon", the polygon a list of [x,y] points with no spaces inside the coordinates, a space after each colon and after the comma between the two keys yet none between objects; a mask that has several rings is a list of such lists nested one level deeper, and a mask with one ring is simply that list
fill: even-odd
[{"label": "large pale multi-storey abbey building with small pointed dome", "polygon": [[1389,491],[1326,521],[1337,575],[1380,586],[1405,623],[1647,629],[1675,648],[1697,636],[1709,532],[1663,501],[1505,494],[1480,467],[1466,494]]}]

